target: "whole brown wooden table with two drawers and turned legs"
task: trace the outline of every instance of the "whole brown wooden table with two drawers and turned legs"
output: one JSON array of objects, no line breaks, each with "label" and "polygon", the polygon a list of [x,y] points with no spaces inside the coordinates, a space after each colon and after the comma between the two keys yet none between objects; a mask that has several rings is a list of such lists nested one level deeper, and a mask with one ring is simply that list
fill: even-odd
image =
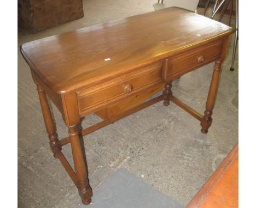
[{"label": "whole brown wooden table with two drawers and turned legs", "polygon": [[[78,188],[91,201],[79,135],[85,136],[140,109],[170,101],[201,122],[212,123],[220,65],[234,30],[187,10],[167,8],[27,42],[21,53],[37,85],[50,147]],[[172,81],[215,61],[204,115],[172,95]],[[144,102],[157,91],[162,95]],[[59,140],[49,99],[62,113],[69,137]],[[103,121],[79,132],[80,119],[96,113]],[[61,146],[71,142],[74,169]]]}]

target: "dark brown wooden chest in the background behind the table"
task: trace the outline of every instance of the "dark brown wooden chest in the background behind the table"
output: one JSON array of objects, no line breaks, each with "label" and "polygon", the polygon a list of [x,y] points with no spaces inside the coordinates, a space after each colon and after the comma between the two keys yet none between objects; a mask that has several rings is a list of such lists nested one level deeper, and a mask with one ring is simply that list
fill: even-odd
[{"label": "dark brown wooden chest in the background behind the table", "polygon": [[30,33],[84,16],[82,0],[18,0],[18,26]]}]

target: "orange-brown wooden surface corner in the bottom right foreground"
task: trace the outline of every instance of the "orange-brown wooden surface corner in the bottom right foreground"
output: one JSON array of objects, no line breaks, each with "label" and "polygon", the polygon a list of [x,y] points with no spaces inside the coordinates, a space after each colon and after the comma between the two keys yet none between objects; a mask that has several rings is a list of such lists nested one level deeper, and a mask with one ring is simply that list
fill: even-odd
[{"label": "orange-brown wooden surface corner in the bottom right foreground", "polygon": [[238,143],[187,208],[238,207]]}]

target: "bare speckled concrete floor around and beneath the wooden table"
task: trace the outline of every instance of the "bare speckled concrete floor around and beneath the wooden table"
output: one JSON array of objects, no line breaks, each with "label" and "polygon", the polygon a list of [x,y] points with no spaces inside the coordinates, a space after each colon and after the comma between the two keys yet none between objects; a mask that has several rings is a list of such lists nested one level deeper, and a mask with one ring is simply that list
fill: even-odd
[{"label": "bare speckled concrete floor around and beneath the wooden table", "polygon": [[[78,207],[80,204],[77,189],[49,148],[36,86],[19,46],[45,36],[146,13],[153,10],[155,2],[85,0],[83,19],[37,34],[18,29],[19,207]],[[233,36],[222,65],[210,131],[202,134],[199,121],[191,115],[173,103],[166,107],[159,102],[89,134],[84,143],[94,191],[122,167],[138,177],[143,174],[142,180],[178,203],[188,204],[238,141],[238,50],[235,71],[229,71]],[[212,71],[213,63],[183,76],[173,83],[173,94],[203,113]],[[61,115],[52,107],[59,137],[66,137]],[[99,120],[90,115],[84,119],[83,127]],[[70,145],[63,147],[63,153],[72,163]]]}]

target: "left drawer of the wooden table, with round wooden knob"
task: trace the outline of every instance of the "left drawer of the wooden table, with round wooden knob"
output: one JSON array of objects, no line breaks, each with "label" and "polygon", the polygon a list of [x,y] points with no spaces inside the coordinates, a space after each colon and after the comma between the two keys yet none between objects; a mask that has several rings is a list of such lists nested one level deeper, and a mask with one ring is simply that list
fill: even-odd
[{"label": "left drawer of the wooden table, with round wooden knob", "polygon": [[79,114],[95,113],[114,102],[162,83],[162,62],[77,92]]}]

